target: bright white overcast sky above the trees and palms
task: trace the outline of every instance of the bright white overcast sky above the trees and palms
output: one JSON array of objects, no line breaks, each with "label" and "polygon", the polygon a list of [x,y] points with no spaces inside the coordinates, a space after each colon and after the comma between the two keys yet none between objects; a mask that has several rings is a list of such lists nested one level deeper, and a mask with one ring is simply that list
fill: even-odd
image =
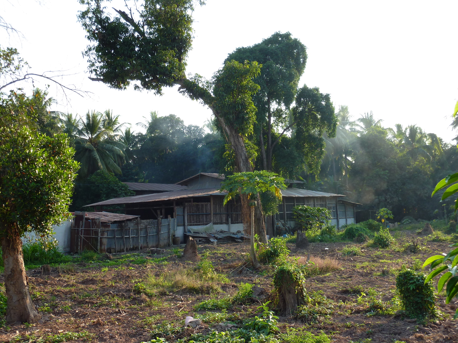
[{"label": "bright white overcast sky above the trees and palms", "polygon": [[[58,100],[53,109],[83,115],[88,109],[110,108],[132,124],[152,110],[200,126],[210,118],[206,107],[176,88],[159,97],[87,80],[81,54],[87,40],[76,20],[81,10],[77,0],[1,3],[0,16],[25,37],[0,32],[2,47],[18,48],[33,72],[68,70],[75,75],[63,83],[93,93],[80,97],[67,92],[65,101],[51,88]],[[207,0],[194,13],[187,73],[210,78],[235,48],[289,31],[307,46],[300,86],[318,86],[336,108],[348,105],[354,118],[372,111],[385,127],[417,124],[450,141],[456,136],[449,124],[458,97],[456,13],[457,1]]]}]

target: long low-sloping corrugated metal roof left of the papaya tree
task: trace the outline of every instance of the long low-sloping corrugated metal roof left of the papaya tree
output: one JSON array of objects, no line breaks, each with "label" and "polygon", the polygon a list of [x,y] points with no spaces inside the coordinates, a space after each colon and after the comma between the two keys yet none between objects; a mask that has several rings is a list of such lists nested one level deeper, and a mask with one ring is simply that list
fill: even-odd
[{"label": "long low-sloping corrugated metal roof left of the papaya tree", "polygon": [[149,203],[151,201],[166,201],[188,197],[203,197],[208,195],[226,195],[226,193],[221,193],[218,188],[183,189],[181,191],[136,195],[133,197],[124,198],[114,198],[86,206]]}]

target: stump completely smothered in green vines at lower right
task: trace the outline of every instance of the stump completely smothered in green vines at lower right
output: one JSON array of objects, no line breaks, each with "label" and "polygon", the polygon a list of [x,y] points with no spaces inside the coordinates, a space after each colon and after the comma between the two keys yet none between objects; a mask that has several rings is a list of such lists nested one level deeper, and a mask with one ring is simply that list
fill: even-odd
[{"label": "stump completely smothered in green vines at lower right", "polygon": [[434,290],[431,281],[425,284],[425,275],[411,269],[403,269],[396,277],[396,289],[405,314],[425,320],[437,316],[434,306]]}]

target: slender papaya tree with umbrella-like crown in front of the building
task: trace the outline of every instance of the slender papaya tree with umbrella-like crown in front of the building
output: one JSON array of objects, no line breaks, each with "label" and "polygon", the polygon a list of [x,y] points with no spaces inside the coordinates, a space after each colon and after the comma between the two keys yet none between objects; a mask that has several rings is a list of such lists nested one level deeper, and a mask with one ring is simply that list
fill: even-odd
[{"label": "slender papaya tree with umbrella-like crown in front of the building", "polygon": [[250,254],[253,268],[259,268],[259,262],[256,258],[255,252],[255,206],[256,202],[260,202],[260,193],[272,192],[279,199],[282,198],[281,189],[285,189],[284,178],[279,177],[278,174],[269,171],[248,171],[241,173],[234,173],[229,175],[224,182],[221,183],[221,191],[227,192],[224,197],[223,204],[234,198],[236,194],[240,194],[241,199],[247,199],[251,208],[250,222]]}]

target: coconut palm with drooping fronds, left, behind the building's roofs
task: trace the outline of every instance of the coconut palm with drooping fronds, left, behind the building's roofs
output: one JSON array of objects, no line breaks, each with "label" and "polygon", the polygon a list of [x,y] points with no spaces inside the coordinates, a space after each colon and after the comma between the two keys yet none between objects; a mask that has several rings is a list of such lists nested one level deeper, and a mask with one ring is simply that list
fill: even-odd
[{"label": "coconut palm with drooping fronds, left, behind the building's roofs", "polygon": [[102,113],[87,111],[86,118],[80,120],[75,139],[75,159],[81,163],[79,177],[87,177],[97,170],[121,174],[126,146],[111,139],[113,134],[111,129],[104,129]]}]

